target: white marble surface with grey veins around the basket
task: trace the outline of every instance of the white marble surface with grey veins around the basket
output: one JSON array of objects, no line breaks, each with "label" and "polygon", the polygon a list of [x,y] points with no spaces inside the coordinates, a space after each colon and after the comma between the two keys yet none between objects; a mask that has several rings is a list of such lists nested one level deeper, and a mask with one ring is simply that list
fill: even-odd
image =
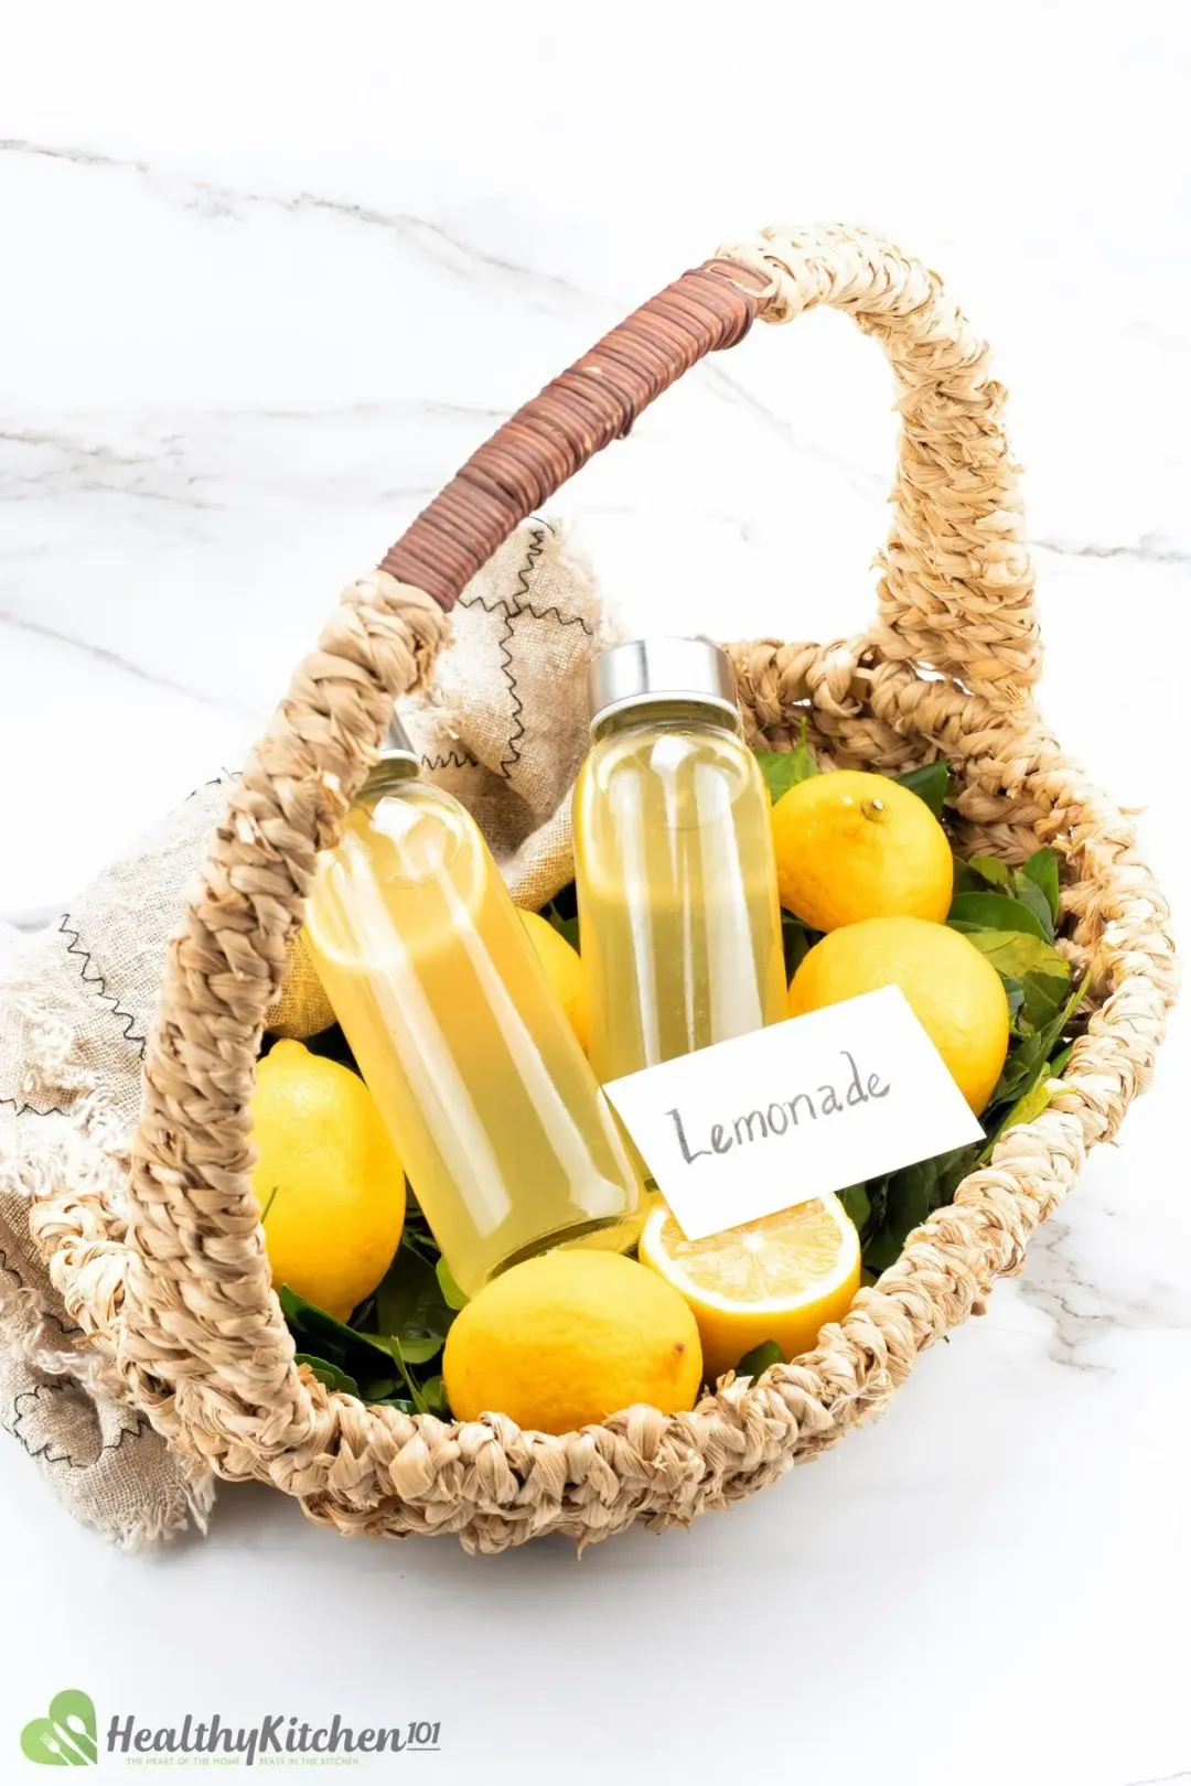
[{"label": "white marble surface with grey veins around the basket", "polygon": [[[232,763],[339,584],[516,402],[789,216],[879,225],[995,339],[1048,711],[1186,895],[1189,61],[1146,0],[5,21],[0,916],[61,909]],[[807,318],[561,507],[643,627],[839,634],[891,430],[877,350]],[[450,1781],[532,1777],[543,1743],[582,1781],[1191,1779],[1186,1072],[1177,1031],[1123,1148],[884,1423],[689,1538],[468,1561],[229,1490],[205,1545],[127,1559],[0,1448],[0,1752],[71,1677],[155,1722],[441,1718],[411,1766]]]}]

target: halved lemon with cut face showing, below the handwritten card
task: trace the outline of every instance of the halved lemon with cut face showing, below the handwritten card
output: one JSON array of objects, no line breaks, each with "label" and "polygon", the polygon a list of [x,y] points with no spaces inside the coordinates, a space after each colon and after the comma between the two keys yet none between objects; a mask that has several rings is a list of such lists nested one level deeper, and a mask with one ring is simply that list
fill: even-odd
[{"label": "halved lemon with cut face showing, below the handwritten card", "polygon": [[775,1340],[782,1357],[814,1345],[861,1282],[861,1239],[837,1197],[782,1209],[743,1227],[686,1239],[662,1204],[645,1223],[639,1257],[687,1300],[709,1382]]}]

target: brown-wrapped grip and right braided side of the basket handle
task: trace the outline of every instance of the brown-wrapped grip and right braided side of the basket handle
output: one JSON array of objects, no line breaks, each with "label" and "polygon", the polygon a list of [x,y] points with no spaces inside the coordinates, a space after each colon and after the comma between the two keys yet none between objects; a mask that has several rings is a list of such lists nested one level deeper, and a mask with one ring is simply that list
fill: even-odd
[{"label": "brown-wrapped grip and right braided side of the basket handle", "polygon": [[764,230],[684,273],[518,409],[380,568],[450,609],[512,529],[695,361],[734,346],[757,314],[789,321],[820,304],[877,336],[898,380],[882,655],[955,677],[1002,711],[1023,705],[1041,659],[1004,388],[937,275],[864,232]]}]

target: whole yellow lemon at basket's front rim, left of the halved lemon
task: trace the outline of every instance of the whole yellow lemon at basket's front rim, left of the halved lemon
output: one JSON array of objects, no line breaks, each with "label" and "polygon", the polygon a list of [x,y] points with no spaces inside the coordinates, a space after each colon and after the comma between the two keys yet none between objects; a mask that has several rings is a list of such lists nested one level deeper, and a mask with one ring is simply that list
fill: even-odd
[{"label": "whole yellow lemon at basket's front rim, left of the halved lemon", "polygon": [[573,1432],[634,1402],[679,1413],[702,1377],[679,1291],[616,1252],[514,1264],[455,1316],[443,1354],[457,1420],[502,1413],[534,1432]]}]

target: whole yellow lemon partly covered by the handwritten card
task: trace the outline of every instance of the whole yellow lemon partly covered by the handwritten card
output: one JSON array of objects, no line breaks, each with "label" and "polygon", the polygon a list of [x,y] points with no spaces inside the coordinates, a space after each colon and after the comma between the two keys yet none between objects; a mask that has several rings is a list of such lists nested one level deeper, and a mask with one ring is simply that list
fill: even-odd
[{"label": "whole yellow lemon partly covered by the handwritten card", "polygon": [[1009,1050],[1009,1000],[996,968],[959,931],[921,918],[868,918],[832,931],[789,982],[789,1014],[900,986],[980,1114]]}]

